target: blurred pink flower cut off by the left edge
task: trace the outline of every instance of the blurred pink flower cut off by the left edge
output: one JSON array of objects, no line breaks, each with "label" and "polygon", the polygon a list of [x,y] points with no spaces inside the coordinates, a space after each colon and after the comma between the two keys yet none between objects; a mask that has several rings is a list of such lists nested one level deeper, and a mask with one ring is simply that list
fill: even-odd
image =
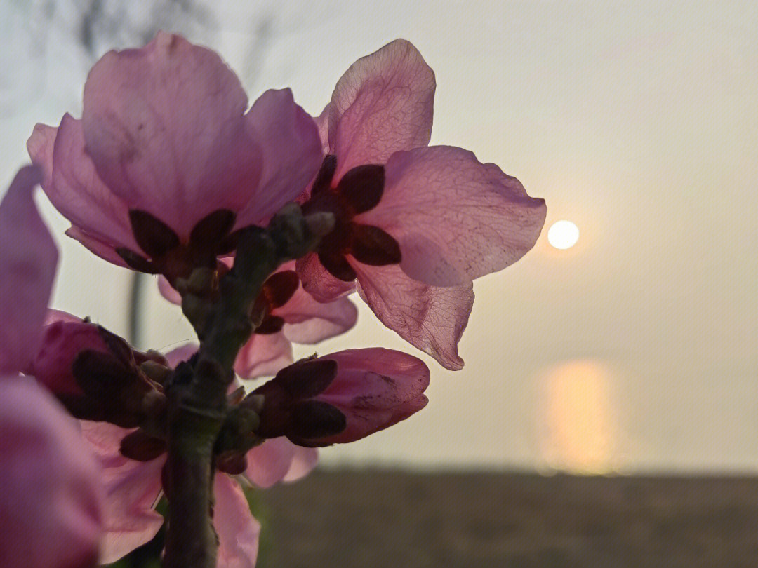
[{"label": "blurred pink flower cut off by the left edge", "polygon": [[0,565],[83,568],[98,560],[102,485],[74,420],[33,377],[58,251],[20,170],[0,204]]}]

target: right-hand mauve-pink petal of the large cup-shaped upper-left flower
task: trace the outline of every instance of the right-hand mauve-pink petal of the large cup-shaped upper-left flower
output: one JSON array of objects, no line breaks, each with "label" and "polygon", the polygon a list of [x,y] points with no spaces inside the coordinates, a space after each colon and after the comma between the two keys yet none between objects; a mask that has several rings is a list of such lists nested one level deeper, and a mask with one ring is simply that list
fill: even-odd
[{"label": "right-hand mauve-pink petal of the large cup-shaped upper-left flower", "polygon": [[302,193],[323,158],[313,119],[295,104],[290,89],[263,93],[246,120],[263,150],[263,170],[255,197],[237,217],[237,227],[268,223]]}]

